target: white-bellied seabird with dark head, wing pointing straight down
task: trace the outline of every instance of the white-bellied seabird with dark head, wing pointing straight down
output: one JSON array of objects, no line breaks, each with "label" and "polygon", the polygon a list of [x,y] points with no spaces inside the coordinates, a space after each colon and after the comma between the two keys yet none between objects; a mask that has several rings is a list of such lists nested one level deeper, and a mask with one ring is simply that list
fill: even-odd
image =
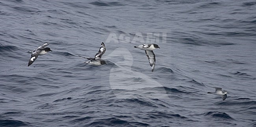
[{"label": "white-bellied seabird with dark head, wing pointing straight down", "polygon": [[156,65],[156,55],[154,54],[153,50],[157,48],[160,49],[160,47],[157,44],[143,44],[143,45],[134,46],[134,47],[141,50],[145,50],[145,53],[148,56],[148,61],[150,66],[152,67],[152,72],[153,72]]}]

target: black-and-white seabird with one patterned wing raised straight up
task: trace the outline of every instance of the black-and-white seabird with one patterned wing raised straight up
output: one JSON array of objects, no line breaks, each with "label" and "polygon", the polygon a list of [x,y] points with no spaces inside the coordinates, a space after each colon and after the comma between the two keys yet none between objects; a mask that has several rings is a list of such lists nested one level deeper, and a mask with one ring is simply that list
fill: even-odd
[{"label": "black-and-white seabird with one patterned wing raised straight up", "polygon": [[105,47],[105,44],[102,42],[100,50],[98,51],[98,53],[95,55],[94,58],[86,58],[83,56],[80,56],[80,57],[91,60],[91,61],[85,62],[89,65],[100,66],[100,65],[106,64],[106,61],[101,59],[101,56],[105,53],[105,51],[106,51],[106,47]]}]

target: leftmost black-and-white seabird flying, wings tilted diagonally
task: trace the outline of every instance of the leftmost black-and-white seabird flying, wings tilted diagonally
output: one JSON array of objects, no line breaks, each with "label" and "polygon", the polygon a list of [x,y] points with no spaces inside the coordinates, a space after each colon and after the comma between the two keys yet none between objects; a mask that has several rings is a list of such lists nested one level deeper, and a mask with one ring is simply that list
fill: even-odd
[{"label": "leftmost black-and-white seabird flying, wings tilted diagonally", "polygon": [[37,59],[38,55],[44,55],[44,54],[48,53],[49,51],[52,51],[49,47],[46,47],[47,45],[49,45],[48,42],[39,46],[37,49],[34,49],[33,51],[28,52],[28,53],[32,53],[31,58],[28,62],[28,66],[30,66]]}]

